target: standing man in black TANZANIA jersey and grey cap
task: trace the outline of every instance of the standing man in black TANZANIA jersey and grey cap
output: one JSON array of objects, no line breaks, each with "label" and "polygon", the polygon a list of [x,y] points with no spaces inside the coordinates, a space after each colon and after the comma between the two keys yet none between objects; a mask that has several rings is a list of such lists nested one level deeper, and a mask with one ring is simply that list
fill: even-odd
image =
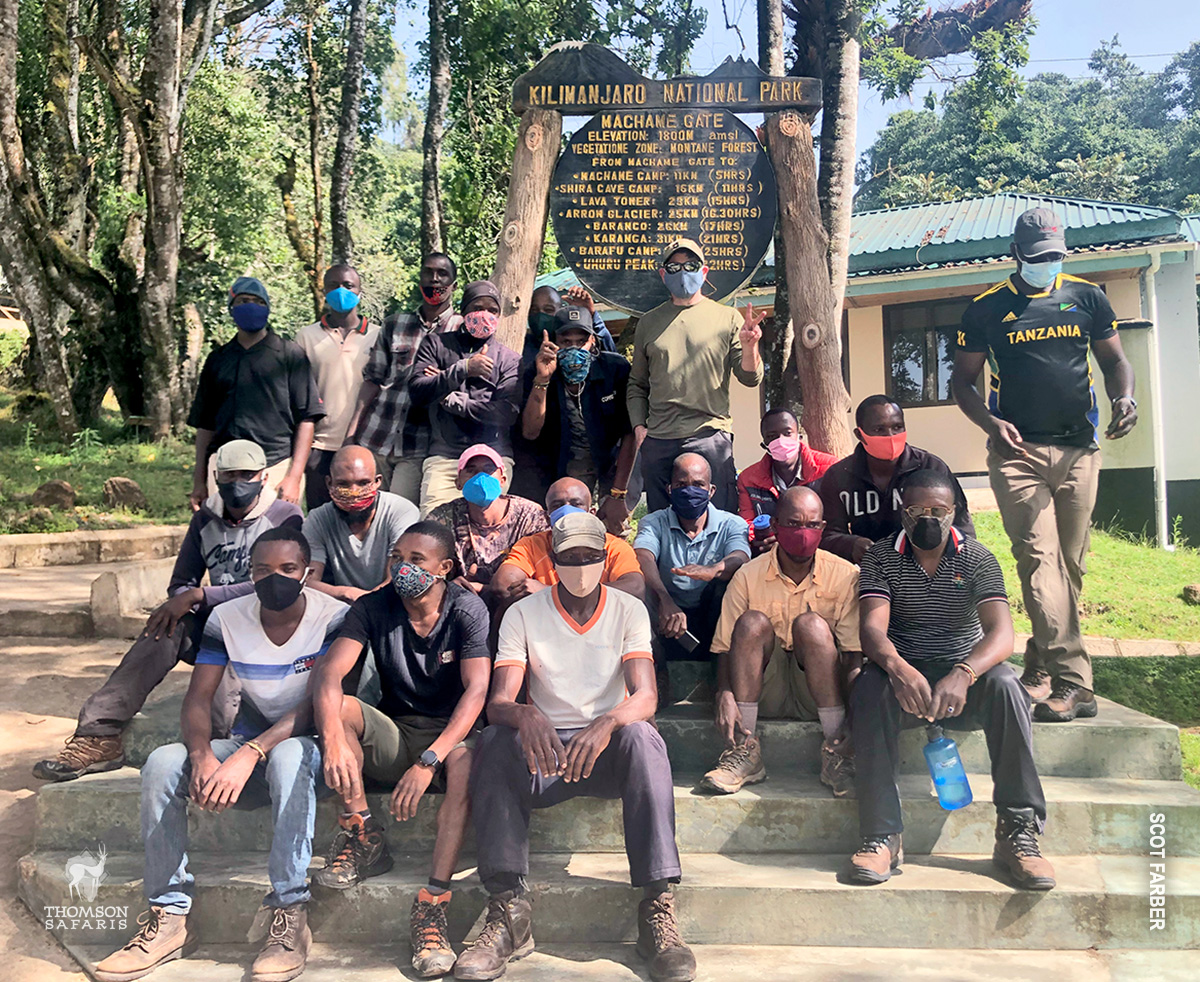
[{"label": "standing man in black TANZANIA jersey and grey cap", "polygon": [[[1062,220],[1044,208],[1026,211],[1016,220],[1012,253],[1016,273],[962,315],[952,385],[959,408],[988,435],[988,477],[1033,625],[1021,682],[1038,702],[1036,719],[1064,723],[1096,715],[1092,661],[1079,625],[1100,473],[1090,349],[1112,407],[1109,439],[1134,427],[1138,403],[1108,298],[1062,273]],[[989,354],[990,406],[976,388]]]}]

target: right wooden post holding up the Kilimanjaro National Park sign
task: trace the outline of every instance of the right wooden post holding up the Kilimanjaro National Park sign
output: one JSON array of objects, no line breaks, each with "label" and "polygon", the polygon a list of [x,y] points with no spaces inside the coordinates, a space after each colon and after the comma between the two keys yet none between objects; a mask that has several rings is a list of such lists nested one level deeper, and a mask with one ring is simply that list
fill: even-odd
[{"label": "right wooden post holding up the Kilimanjaro National Park sign", "polygon": [[767,152],[779,186],[788,300],[796,328],[796,369],[804,394],[804,429],[818,450],[847,456],[850,394],[841,381],[840,318],[829,282],[829,236],[817,204],[811,122],[799,113],[767,119]]}]

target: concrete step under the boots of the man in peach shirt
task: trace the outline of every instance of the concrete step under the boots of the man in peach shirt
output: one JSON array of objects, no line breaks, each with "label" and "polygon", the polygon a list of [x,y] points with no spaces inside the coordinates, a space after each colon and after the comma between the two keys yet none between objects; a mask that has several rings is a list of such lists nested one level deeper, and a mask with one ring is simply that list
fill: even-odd
[{"label": "concrete step under the boots of the man in peach shirt", "polygon": [[[1200,791],[1183,782],[1112,778],[1045,778],[1049,821],[1046,855],[1146,854],[1148,815],[1160,812],[1176,856],[1200,856]],[[930,794],[928,776],[901,776],[905,845],[912,854],[985,852],[991,849],[995,812],[991,779],[972,777],[976,802],[943,810]],[[858,810],[852,800],[834,800],[815,774],[776,773],[737,795],[708,795],[692,782],[677,780],[676,828],[679,850],[692,852],[850,852],[858,845]],[[43,785],[37,795],[38,850],[142,849],[138,828],[140,780],[132,768],[89,774],[76,782]],[[371,810],[388,827],[394,849],[430,850],[440,798],[427,795],[416,818],[396,822],[388,794],[371,795]],[[336,825],[332,797],[320,802],[316,849],[328,846]],[[265,851],[271,843],[270,809],[234,809],[214,815],[192,809],[188,828],[197,854]],[[467,854],[473,855],[468,832]],[[535,812],[534,852],[618,852],[624,849],[620,802],[577,798]]]}]

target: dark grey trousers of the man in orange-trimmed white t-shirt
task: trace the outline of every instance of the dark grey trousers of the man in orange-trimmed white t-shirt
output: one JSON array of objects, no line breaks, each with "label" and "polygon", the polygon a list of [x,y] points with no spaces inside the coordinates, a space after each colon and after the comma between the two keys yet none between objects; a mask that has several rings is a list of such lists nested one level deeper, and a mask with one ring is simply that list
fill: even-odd
[{"label": "dark grey trousers of the man in orange-trimmed white t-shirt", "polygon": [[[578,730],[559,730],[565,744]],[[612,735],[592,777],[568,784],[530,774],[521,738],[511,726],[488,726],[475,743],[470,808],[475,819],[479,878],[491,894],[512,888],[529,873],[529,816],[576,797],[620,798],[625,855],[634,886],[678,880],[674,789],[671,761],[659,731],[631,723]]]}]

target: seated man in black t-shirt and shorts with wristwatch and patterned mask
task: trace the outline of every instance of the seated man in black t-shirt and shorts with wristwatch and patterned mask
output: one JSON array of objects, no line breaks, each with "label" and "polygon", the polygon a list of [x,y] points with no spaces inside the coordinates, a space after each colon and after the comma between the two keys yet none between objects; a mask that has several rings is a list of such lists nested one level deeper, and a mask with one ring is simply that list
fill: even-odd
[{"label": "seated man in black t-shirt and shorts with wristwatch and patterned mask", "polygon": [[[350,609],[313,683],[325,780],[342,796],[340,831],[325,868],[313,879],[348,890],[391,869],[383,825],[367,806],[364,776],[394,786],[390,812],[400,821],[416,815],[430,788],[444,791],[428,886],[416,894],[410,920],[413,968],[432,978],[455,963],[445,911],[470,814],[468,747],[492,676],[487,609],[466,587],[446,582],[454,539],[443,525],[410,526],[390,564],[391,586]],[[342,679],[367,645],[383,688],[378,709],[342,694]]]}]

